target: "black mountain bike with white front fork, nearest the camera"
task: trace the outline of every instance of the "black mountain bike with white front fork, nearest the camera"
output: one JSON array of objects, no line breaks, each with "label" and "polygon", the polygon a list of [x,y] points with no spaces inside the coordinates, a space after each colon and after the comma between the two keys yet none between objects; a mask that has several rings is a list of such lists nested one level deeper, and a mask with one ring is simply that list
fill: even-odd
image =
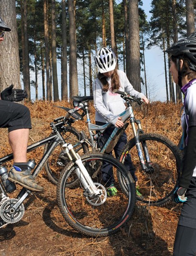
[{"label": "black mountain bike with white front fork, nearest the camera", "polygon": [[[73,146],[64,139],[65,128],[68,128],[64,126],[66,121],[65,117],[55,119],[50,123],[52,134],[28,146],[27,151],[30,152],[37,147],[47,145],[37,165],[34,159],[29,160],[28,168],[33,170],[32,176],[36,178],[54,149],[58,145],[61,146],[62,154],[69,159],[69,164],[61,172],[57,184],[57,203],[64,218],[73,228],[86,235],[107,236],[117,232],[131,218],[135,207],[136,194],[132,177],[117,159],[106,154],[88,153],[80,157],[76,152],[76,145]],[[70,129],[69,127],[68,131],[71,131]],[[0,158],[0,163],[12,158],[13,155],[9,154]],[[107,196],[108,185],[103,181],[101,172],[95,178],[92,177],[102,165],[102,161],[113,168],[118,188],[115,199]],[[9,194],[16,187],[14,188],[14,183],[11,183],[13,189],[6,191],[6,183],[9,180],[5,167],[0,167],[0,174],[0,227],[3,227],[22,219],[23,201],[32,191],[23,187],[16,198],[10,197]],[[118,175],[123,177],[126,190],[119,183]],[[70,188],[69,183],[72,183],[75,177],[79,182]]]}]

